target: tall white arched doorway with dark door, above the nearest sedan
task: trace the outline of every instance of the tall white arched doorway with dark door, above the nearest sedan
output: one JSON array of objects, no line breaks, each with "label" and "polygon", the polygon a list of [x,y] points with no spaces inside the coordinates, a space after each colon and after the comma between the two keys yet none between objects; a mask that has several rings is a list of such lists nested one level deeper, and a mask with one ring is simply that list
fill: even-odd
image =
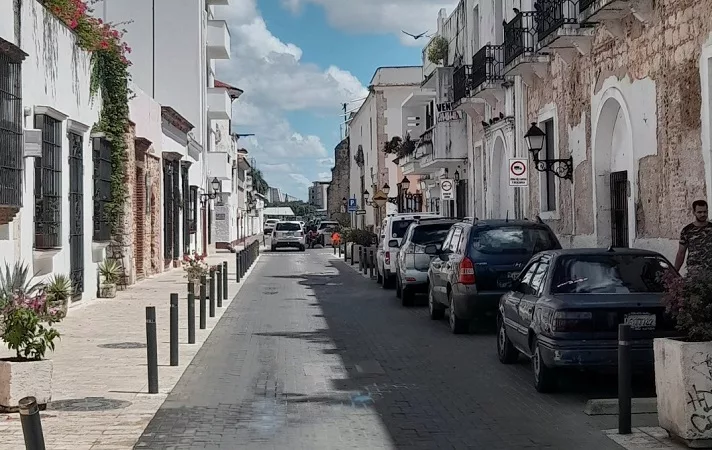
[{"label": "tall white arched doorway with dark door, above the nearest sedan", "polygon": [[636,186],[633,134],[623,96],[606,91],[593,141],[595,232],[599,246],[628,247],[635,240]]}]

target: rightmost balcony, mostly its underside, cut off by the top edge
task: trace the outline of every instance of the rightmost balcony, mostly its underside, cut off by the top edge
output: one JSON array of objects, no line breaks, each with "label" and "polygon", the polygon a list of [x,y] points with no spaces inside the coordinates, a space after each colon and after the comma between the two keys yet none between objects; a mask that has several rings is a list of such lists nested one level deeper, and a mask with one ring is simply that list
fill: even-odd
[{"label": "rightmost balcony, mostly its underside, cut off by the top edge", "polygon": [[625,37],[624,17],[633,15],[643,23],[653,15],[653,0],[579,0],[579,20],[584,24],[603,25],[614,38]]}]

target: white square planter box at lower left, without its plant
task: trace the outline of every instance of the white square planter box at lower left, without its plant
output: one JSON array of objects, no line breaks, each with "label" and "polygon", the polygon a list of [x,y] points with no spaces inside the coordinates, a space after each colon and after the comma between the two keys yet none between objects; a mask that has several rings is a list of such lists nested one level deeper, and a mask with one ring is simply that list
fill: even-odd
[{"label": "white square planter box at lower left, without its plant", "polygon": [[52,360],[15,362],[0,360],[0,410],[16,411],[23,397],[39,405],[52,400]]}]

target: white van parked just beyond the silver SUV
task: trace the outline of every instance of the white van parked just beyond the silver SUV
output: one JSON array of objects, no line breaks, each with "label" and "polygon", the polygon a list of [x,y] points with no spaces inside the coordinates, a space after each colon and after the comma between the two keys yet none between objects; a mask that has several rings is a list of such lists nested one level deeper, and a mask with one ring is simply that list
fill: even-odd
[{"label": "white van parked just beyond the silver SUV", "polygon": [[440,215],[427,212],[401,213],[393,214],[383,219],[381,235],[378,240],[376,265],[378,266],[378,282],[383,283],[384,289],[390,289],[395,284],[395,258],[406,230],[408,230],[411,223],[425,217],[440,217]]}]

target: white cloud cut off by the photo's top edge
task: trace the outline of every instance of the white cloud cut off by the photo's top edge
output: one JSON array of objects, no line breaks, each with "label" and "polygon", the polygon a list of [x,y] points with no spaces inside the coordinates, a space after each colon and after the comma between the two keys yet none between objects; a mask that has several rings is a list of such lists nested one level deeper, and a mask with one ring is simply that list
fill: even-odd
[{"label": "white cloud cut off by the photo's top edge", "polygon": [[458,0],[282,0],[284,7],[295,14],[308,3],[323,7],[334,27],[357,33],[392,33],[404,44],[422,47],[426,38],[416,41],[401,30],[415,35],[426,30],[434,33],[438,11],[445,8],[450,14]]}]

